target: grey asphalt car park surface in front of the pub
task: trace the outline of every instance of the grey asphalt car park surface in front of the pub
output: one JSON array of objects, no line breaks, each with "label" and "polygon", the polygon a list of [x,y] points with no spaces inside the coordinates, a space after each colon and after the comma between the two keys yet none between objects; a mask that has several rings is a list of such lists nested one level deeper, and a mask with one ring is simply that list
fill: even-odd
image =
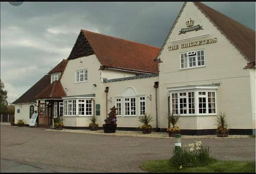
[{"label": "grey asphalt car park surface in front of the pub", "polygon": [[[202,139],[219,160],[255,160],[255,138]],[[195,142],[183,139],[182,143]],[[1,172],[143,172],[147,160],[169,159],[174,139],[44,131],[1,125]],[[19,168],[23,168],[19,170]]]}]

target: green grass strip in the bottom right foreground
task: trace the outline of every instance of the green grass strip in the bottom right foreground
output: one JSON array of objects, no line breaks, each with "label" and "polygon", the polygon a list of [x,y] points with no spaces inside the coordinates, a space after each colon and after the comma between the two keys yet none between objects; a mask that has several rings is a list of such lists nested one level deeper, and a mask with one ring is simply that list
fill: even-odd
[{"label": "green grass strip in the bottom right foreground", "polygon": [[253,162],[241,162],[241,161],[217,161],[215,163],[206,165],[204,167],[194,167],[194,168],[182,168],[177,169],[170,165],[169,160],[156,160],[147,161],[140,165],[140,168],[147,172],[163,172],[163,173],[188,173],[188,172],[247,172],[255,173],[255,161]]}]

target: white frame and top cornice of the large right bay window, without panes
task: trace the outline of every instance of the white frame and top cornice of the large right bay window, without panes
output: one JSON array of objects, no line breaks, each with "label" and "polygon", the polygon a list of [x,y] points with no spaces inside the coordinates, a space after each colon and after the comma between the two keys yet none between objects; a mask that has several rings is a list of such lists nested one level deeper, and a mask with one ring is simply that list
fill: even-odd
[{"label": "white frame and top cornice of the large right bay window, without panes", "polygon": [[[172,94],[175,95],[175,93],[178,93],[178,96],[177,96],[178,97],[177,98],[178,99],[178,113],[180,114],[180,96],[179,96],[179,93],[186,92],[187,114],[180,114],[181,116],[217,115],[217,113],[218,113],[218,109],[217,109],[217,89],[218,89],[218,87],[215,87],[215,88],[212,88],[212,89],[211,89],[211,87],[208,87],[208,88],[204,88],[204,87],[205,86],[202,86],[202,87],[192,86],[191,88],[193,88],[193,89],[191,89],[191,88],[189,89],[189,87],[188,87],[187,89],[184,89],[184,90],[179,90],[178,87],[176,88],[177,90],[175,90],[175,88],[172,88],[172,89],[170,88],[169,89],[169,92],[170,92],[170,111],[172,112]],[[198,100],[198,97],[200,97],[200,95],[198,95],[198,92],[200,92],[200,91],[206,92],[206,95],[205,95],[205,97],[206,97],[206,113],[201,113],[201,114],[199,113],[199,100]],[[188,106],[189,106],[188,93],[189,92],[195,92],[194,93],[194,95],[195,95],[195,114],[189,114],[189,108],[188,108]],[[214,94],[215,94],[215,113],[209,113],[208,92],[214,92]]]}]

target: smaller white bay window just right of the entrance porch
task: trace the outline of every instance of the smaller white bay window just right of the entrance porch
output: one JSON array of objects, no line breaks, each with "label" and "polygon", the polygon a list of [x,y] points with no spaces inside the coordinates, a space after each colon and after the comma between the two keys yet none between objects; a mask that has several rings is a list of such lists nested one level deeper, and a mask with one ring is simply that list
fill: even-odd
[{"label": "smaller white bay window just right of the entrance porch", "polygon": [[64,99],[64,116],[91,116],[91,99]]}]

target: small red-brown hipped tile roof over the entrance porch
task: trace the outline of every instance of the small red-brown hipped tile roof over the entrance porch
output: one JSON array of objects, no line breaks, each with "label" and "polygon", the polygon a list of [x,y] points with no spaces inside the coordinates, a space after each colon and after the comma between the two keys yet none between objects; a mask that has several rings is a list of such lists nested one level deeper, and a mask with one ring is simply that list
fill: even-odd
[{"label": "small red-brown hipped tile roof over the entrance porch", "polygon": [[61,97],[65,96],[66,93],[61,85],[61,82],[55,80],[54,82],[49,84],[43,91],[41,91],[38,95],[36,95],[35,99],[61,99]]}]

